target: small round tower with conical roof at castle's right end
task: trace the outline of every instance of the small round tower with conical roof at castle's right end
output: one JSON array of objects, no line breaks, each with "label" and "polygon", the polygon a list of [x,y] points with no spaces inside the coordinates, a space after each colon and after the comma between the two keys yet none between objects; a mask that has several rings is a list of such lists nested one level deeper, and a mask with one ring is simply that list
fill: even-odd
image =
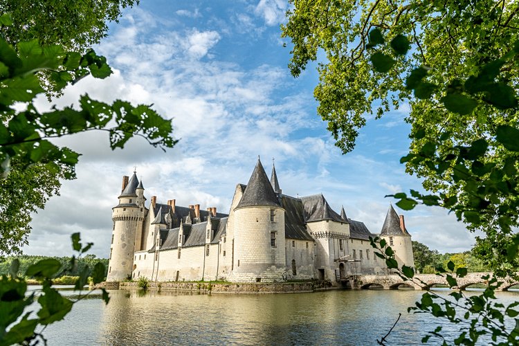
[{"label": "small round tower with conical roof at castle's right end", "polygon": [[381,238],[385,239],[388,246],[394,251],[394,258],[399,264],[415,268],[415,257],[412,255],[411,235],[406,229],[403,215],[398,215],[390,206],[388,214],[385,215],[384,224],[381,230]]}]

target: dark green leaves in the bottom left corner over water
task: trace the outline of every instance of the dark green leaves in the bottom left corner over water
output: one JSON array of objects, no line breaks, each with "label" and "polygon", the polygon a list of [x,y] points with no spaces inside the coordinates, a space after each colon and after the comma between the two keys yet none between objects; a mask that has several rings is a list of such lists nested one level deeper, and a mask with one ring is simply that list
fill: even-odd
[{"label": "dark green leaves in the bottom left corner over water", "polygon": [[[79,234],[73,235],[73,248],[78,252],[78,258],[90,247],[82,246]],[[76,266],[76,257],[72,257],[68,263]],[[30,264],[24,275],[35,276],[42,284],[42,291],[26,295],[27,283],[19,277],[20,262],[15,259],[10,265],[10,275],[0,276],[0,345],[36,345],[39,342],[46,344],[42,332],[47,325],[62,320],[73,307],[73,304],[82,300],[86,295],[81,294],[82,285],[78,287],[81,278],[76,278],[76,288],[79,296],[75,300],[66,298],[53,288],[52,278],[60,272],[62,264],[55,258],[46,258]],[[94,272],[104,273],[104,266],[98,262]],[[103,279],[99,275],[93,276],[93,284],[100,283]],[[39,306],[34,306],[35,298]],[[102,299],[108,304],[107,291],[102,289]],[[35,310],[37,309],[37,310]]]}]

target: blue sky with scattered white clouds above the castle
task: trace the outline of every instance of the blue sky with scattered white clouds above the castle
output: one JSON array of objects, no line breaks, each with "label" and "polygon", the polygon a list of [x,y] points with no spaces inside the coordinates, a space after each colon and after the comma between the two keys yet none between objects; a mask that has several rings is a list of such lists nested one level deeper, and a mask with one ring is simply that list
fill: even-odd
[{"label": "blue sky with scattered white clouds above the castle", "polygon": [[[34,216],[30,255],[69,255],[71,233],[94,242],[107,257],[111,208],[118,203],[122,175],[133,167],[148,201],[176,199],[183,206],[216,206],[228,212],[237,183],[247,183],[260,155],[270,175],[275,158],[285,194],[322,193],[332,208],[379,233],[392,199],[386,194],[420,189],[399,158],[408,148],[408,105],[379,120],[372,116],[353,152],[334,147],[326,123],[316,115],[315,64],[294,79],[287,69],[290,42],[280,38],[288,3],[260,1],[142,1],[125,10],[119,24],[95,46],[114,73],[84,78],[59,100],[39,98],[38,107],[76,104],[89,93],[102,101],[154,104],[173,119],[180,139],[166,153],[135,138],[111,151],[105,133],[60,138],[82,153],[78,179]],[[283,47],[286,43],[287,47]],[[441,252],[471,248],[473,235],[439,208],[402,212],[412,239]]]}]

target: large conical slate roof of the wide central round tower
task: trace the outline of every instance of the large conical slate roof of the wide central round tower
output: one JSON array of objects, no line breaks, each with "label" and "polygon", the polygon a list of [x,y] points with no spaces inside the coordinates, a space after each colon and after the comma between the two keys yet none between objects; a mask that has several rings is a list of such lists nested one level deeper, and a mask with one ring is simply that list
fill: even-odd
[{"label": "large conical slate roof of the wide central round tower", "polygon": [[251,179],[248,180],[244,195],[236,208],[251,206],[280,206],[260,158],[257,158]]}]

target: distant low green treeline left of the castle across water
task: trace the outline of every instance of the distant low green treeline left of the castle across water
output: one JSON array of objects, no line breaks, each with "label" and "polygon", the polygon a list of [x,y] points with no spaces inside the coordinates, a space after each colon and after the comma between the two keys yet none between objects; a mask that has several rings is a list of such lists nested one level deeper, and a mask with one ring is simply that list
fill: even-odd
[{"label": "distant low green treeline left of the castle across water", "polygon": [[[96,263],[101,262],[104,264],[104,276],[107,276],[108,271],[108,259],[106,258],[97,258],[95,255],[86,255],[84,257],[81,257],[78,261],[76,261],[76,265],[74,268],[71,268],[71,257],[49,257],[49,256],[28,256],[28,255],[21,255],[21,256],[12,256],[7,257],[5,260],[0,261],[0,275],[7,275],[9,274],[9,269],[11,266],[12,260],[17,258],[20,262],[18,275],[22,275],[26,272],[27,268],[35,264],[36,262],[40,260],[45,260],[46,258],[54,258],[55,260],[58,260],[62,264],[62,268],[59,272],[55,275],[55,277],[62,277],[64,275],[68,276],[79,276],[80,273],[83,271],[83,268],[88,268],[89,276],[91,276],[93,266],[95,266]],[[26,277],[28,279],[32,277]]]}]

